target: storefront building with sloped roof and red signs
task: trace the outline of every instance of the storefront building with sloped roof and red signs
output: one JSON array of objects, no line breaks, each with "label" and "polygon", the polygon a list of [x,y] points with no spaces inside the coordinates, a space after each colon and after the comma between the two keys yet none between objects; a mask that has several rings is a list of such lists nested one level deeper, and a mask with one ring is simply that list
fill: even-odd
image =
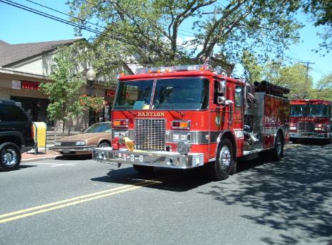
[{"label": "storefront building with sloped roof and red signs", "polygon": [[[54,127],[61,129],[61,122],[50,120],[47,115],[47,106],[50,101],[39,89],[41,83],[51,83],[52,57],[59,45],[71,45],[78,39],[50,41],[42,43],[9,44],[0,41],[0,98],[18,102],[35,122],[44,122],[48,130]],[[127,69],[129,68],[126,67]],[[84,72],[84,68],[81,72]],[[104,97],[107,104],[102,111],[84,111],[66,125],[67,130],[82,131],[96,122],[111,120],[111,107],[116,91],[116,80],[111,87],[105,87],[103,79],[112,79],[111,76],[97,78],[96,83],[81,88],[81,94],[98,95]],[[113,78],[115,79],[115,78]]]}]

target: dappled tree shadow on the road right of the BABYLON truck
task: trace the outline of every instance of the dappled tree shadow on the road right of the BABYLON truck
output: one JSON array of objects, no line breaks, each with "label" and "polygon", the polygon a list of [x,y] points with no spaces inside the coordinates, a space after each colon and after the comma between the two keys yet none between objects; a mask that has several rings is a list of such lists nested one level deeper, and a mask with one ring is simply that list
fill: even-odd
[{"label": "dappled tree shadow on the road right of the BABYLON truck", "polygon": [[[246,167],[244,167],[246,166]],[[249,168],[247,168],[247,166]],[[215,184],[209,195],[223,204],[255,210],[243,215],[256,224],[276,229],[265,244],[327,244],[332,237],[332,147],[306,145],[286,150],[281,162],[241,162],[233,182]],[[287,231],[287,232],[286,232]],[[292,234],[288,236],[285,234]]]}]

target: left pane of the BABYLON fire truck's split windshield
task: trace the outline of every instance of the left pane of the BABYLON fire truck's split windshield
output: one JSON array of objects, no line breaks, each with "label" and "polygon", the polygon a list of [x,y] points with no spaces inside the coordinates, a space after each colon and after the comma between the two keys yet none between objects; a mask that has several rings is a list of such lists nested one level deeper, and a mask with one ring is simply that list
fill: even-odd
[{"label": "left pane of the BABYLON fire truck's split windshield", "polygon": [[154,80],[119,82],[113,109],[142,110],[149,109]]}]

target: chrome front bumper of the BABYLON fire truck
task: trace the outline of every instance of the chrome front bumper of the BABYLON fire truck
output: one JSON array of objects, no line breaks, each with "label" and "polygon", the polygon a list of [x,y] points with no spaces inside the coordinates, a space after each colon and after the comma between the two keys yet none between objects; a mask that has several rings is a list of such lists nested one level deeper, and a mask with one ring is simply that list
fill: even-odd
[{"label": "chrome front bumper of the BABYLON fire truck", "polygon": [[129,150],[112,150],[111,147],[95,148],[92,159],[98,162],[130,165],[144,165],[154,167],[168,167],[176,169],[190,169],[204,164],[203,153],[188,153],[180,155],[178,152],[144,151],[130,152]]}]

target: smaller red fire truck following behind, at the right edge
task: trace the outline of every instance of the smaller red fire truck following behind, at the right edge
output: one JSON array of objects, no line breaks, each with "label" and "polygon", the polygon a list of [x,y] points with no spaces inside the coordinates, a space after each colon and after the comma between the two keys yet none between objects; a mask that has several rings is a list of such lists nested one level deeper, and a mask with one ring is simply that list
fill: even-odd
[{"label": "smaller red fire truck following behind, at the right edge", "polygon": [[291,141],[319,139],[331,142],[331,105],[327,100],[292,100]]}]

